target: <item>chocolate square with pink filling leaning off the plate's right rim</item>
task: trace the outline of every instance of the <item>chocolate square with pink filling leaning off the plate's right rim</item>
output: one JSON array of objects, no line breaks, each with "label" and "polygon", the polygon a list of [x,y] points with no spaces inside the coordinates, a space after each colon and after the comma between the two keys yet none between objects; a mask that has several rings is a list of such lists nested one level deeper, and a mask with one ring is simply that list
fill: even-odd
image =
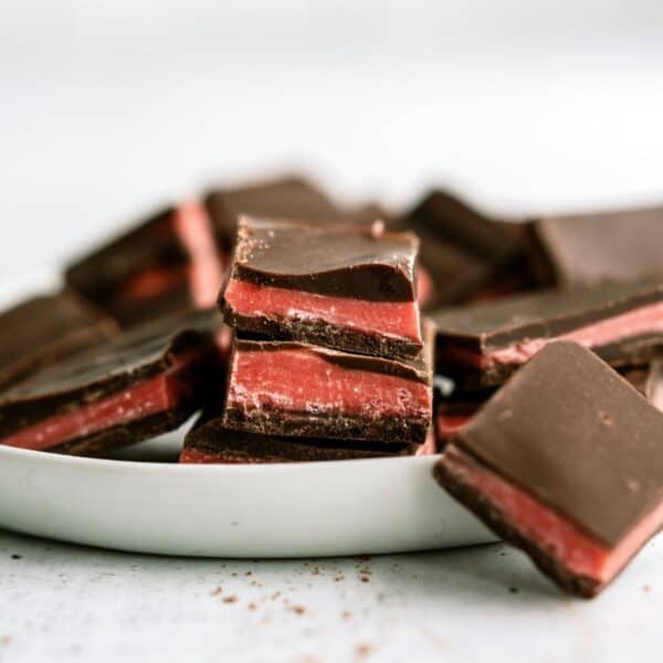
[{"label": "chocolate square with pink filling leaning off the plate's right rim", "polygon": [[593,597],[663,524],[663,414],[550,344],[455,436],[438,481],[568,592]]}]

